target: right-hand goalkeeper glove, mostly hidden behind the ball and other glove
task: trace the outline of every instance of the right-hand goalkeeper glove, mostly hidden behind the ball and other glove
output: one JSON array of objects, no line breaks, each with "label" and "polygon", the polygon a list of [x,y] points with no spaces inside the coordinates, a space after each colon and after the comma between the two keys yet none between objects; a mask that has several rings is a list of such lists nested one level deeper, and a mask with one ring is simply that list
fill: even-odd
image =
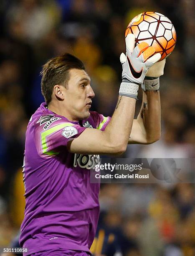
[{"label": "right-hand goalkeeper glove, mostly hidden behind the ball and other glove", "polygon": [[144,82],[142,83],[142,89],[144,91],[159,90],[159,77],[164,74],[165,62],[166,59],[163,59],[148,69]]}]

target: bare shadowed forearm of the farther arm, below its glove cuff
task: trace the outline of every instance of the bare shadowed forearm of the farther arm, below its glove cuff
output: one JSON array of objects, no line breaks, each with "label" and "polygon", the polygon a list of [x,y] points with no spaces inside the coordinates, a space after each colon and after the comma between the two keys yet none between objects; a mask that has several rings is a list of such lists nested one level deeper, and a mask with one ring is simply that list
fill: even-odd
[{"label": "bare shadowed forearm of the farther arm, below its glove cuff", "polygon": [[161,107],[159,91],[143,91],[142,107],[137,122],[144,130],[147,143],[160,139]]}]

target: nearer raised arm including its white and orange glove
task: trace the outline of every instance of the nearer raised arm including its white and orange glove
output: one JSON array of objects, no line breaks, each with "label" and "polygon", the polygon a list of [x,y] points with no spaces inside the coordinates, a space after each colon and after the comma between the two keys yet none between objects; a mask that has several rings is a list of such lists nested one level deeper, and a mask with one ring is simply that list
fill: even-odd
[{"label": "nearer raised arm including its white and orange glove", "polygon": [[[126,56],[121,55],[122,83],[116,109],[105,131],[86,129],[67,144],[68,150],[79,154],[121,154],[127,148],[134,120],[135,102],[139,84],[154,62],[160,59],[153,47],[141,43],[134,48],[134,36],[126,40]],[[152,57],[150,57],[152,56]],[[149,58],[150,57],[150,58]]]}]

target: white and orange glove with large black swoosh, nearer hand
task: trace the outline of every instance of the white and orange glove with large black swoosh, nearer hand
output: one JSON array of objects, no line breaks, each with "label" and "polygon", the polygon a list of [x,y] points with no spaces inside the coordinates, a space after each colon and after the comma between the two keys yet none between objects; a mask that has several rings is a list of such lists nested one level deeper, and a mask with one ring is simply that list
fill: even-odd
[{"label": "white and orange glove with large black swoosh, nearer hand", "polygon": [[134,46],[135,36],[128,34],[126,37],[126,55],[122,53],[120,56],[123,70],[119,95],[137,99],[139,84],[143,83],[149,67],[157,62],[161,55],[157,53],[152,56],[155,49],[152,46],[149,47],[146,42],[138,44],[135,48]]}]

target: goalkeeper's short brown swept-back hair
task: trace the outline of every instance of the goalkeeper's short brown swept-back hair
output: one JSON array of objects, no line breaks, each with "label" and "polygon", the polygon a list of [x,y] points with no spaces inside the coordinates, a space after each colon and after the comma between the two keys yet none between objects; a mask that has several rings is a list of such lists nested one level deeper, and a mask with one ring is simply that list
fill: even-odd
[{"label": "goalkeeper's short brown swept-back hair", "polygon": [[41,92],[47,104],[51,102],[54,85],[67,86],[70,69],[85,69],[85,67],[80,59],[68,53],[50,59],[43,65]]}]

